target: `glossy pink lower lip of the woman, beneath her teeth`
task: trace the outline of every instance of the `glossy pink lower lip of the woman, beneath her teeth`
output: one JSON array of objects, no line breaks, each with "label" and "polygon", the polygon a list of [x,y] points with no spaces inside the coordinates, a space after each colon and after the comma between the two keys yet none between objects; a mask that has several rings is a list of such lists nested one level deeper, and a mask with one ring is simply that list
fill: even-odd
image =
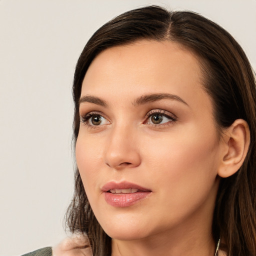
[{"label": "glossy pink lower lip of the woman, beneath her teeth", "polygon": [[104,192],[105,200],[108,204],[115,207],[127,207],[133,205],[141,199],[145,199],[150,191],[139,191],[135,193],[110,193]]}]

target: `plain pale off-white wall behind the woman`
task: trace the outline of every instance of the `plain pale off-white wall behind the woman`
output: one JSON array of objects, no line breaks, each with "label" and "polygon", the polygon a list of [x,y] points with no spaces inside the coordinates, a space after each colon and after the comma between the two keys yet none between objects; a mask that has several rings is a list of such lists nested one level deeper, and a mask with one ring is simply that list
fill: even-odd
[{"label": "plain pale off-white wall behind the woman", "polygon": [[65,236],[76,60],[100,25],[149,3],[216,21],[256,67],[256,0],[0,0],[0,255]]}]

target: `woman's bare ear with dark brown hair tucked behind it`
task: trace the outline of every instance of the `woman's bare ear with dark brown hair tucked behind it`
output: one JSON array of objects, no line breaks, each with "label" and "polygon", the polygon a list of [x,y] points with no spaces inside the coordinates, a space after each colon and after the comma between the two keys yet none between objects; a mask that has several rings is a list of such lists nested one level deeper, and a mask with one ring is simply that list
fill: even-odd
[{"label": "woman's bare ear with dark brown hair tucked behind it", "polygon": [[222,139],[223,151],[218,175],[224,178],[231,176],[241,167],[248,152],[250,131],[247,122],[243,119],[236,119],[224,131]]}]

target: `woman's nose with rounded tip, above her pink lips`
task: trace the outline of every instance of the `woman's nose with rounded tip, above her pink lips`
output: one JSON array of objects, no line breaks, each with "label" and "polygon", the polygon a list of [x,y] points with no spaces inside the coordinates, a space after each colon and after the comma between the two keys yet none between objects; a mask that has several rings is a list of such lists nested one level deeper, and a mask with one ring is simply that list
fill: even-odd
[{"label": "woman's nose with rounded tip, above her pink lips", "polygon": [[138,166],[141,158],[136,142],[136,134],[130,127],[113,128],[105,149],[105,164],[117,170]]}]

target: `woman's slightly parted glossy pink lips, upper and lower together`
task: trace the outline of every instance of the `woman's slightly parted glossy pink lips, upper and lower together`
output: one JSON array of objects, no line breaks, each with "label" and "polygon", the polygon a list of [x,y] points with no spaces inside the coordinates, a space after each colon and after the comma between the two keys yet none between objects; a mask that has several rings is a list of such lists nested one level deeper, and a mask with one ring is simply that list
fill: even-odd
[{"label": "woman's slightly parted glossy pink lips, upper and lower together", "polygon": [[150,189],[126,181],[108,182],[101,190],[104,193],[105,201],[115,207],[130,206],[151,193]]}]

